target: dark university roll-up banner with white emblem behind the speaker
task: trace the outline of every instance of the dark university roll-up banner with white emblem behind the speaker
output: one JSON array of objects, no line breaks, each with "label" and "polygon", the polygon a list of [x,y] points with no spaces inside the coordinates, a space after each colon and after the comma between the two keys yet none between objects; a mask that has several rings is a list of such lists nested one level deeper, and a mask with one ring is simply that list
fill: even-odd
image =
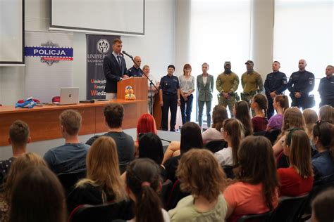
[{"label": "dark university roll-up banner with white emblem behind the speaker", "polygon": [[87,34],[87,93],[86,99],[104,99],[106,78],[103,71],[103,60],[113,52],[113,39],[120,36]]}]

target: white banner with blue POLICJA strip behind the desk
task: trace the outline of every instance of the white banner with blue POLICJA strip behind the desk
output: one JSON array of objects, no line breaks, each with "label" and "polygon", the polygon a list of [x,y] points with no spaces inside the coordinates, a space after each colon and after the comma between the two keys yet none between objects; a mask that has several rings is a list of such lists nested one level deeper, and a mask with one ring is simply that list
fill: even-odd
[{"label": "white banner with blue POLICJA strip behind the desk", "polygon": [[25,95],[42,103],[73,86],[73,34],[25,32]]}]

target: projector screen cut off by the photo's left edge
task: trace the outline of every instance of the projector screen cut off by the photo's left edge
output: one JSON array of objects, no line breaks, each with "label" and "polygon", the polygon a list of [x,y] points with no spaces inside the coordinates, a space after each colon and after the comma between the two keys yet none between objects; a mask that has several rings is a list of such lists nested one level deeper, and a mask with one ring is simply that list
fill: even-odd
[{"label": "projector screen cut off by the photo's left edge", "polygon": [[24,0],[0,0],[0,66],[24,63]]}]

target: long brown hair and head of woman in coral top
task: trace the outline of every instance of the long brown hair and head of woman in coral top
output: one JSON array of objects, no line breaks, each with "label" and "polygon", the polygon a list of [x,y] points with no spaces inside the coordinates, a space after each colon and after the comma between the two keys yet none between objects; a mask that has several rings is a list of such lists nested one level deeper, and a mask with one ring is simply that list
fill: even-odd
[{"label": "long brown hair and head of woman in coral top", "polygon": [[235,171],[237,180],[253,185],[261,183],[266,205],[269,209],[273,209],[278,177],[271,142],[264,136],[247,136],[241,142],[237,158],[239,164]]}]

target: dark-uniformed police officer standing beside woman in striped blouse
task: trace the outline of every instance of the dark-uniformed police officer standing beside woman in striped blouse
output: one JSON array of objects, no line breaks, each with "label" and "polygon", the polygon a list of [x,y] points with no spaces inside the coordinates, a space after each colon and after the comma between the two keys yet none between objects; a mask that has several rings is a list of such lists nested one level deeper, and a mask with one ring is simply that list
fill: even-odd
[{"label": "dark-uniformed police officer standing beside woman in striped blouse", "polygon": [[168,110],[171,109],[171,131],[175,131],[176,111],[180,105],[180,83],[173,76],[174,65],[168,65],[168,74],[161,78],[159,87],[160,105],[162,107],[161,129],[168,130]]}]

